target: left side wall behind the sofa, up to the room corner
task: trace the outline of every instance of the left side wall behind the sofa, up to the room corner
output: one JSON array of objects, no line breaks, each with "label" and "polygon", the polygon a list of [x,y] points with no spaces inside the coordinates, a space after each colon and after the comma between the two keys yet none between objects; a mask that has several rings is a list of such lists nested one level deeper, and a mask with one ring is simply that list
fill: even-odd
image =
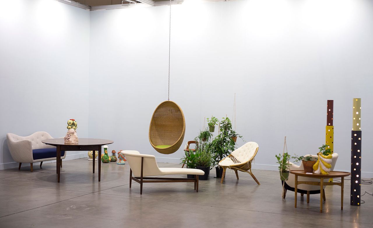
[{"label": "left side wall behind the sofa, up to the room corner", "polygon": [[[0,169],[18,166],[6,134],[88,137],[90,12],[54,0],[1,1]],[[69,152],[66,159],[86,157]]]}]

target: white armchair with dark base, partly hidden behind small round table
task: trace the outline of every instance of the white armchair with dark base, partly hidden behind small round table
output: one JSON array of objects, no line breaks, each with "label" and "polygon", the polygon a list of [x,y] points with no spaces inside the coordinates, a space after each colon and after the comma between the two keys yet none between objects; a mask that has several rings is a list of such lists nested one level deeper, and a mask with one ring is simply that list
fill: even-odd
[{"label": "white armchair with dark base, partly hidden behind small round table", "polygon": [[[317,158],[317,155],[311,155],[311,154],[304,155],[304,157],[307,157],[307,156]],[[338,154],[333,153],[332,156],[333,156],[332,157],[332,164],[331,164],[332,167],[330,168],[331,171],[333,171],[335,163],[337,162]],[[289,162],[289,163],[291,164],[290,171],[292,171],[292,170],[304,170],[303,163],[301,163],[299,166],[294,164],[294,163],[291,163],[291,162]],[[320,179],[298,176],[298,181],[319,182]],[[287,190],[290,190],[290,191],[293,191],[293,192],[295,190],[295,175],[290,173],[288,180],[286,180],[285,183],[283,183],[283,184],[284,184],[284,187],[285,187],[285,192],[284,192],[283,198],[285,198]],[[325,189],[325,187],[326,186],[324,186],[324,189]],[[312,194],[320,194],[320,186],[310,185],[310,184],[299,184],[297,192],[301,193],[301,195],[307,194],[307,203],[309,203],[310,202],[310,194],[311,195]],[[324,197],[324,201],[325,201],[325,192],[323,193],[323,197]]]}]

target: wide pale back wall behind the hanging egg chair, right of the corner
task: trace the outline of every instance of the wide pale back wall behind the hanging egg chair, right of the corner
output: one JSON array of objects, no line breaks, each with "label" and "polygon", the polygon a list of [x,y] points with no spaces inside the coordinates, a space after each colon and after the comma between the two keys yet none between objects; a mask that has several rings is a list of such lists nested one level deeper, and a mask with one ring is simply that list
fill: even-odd
[{"label": "wide pale back wall behind the hanging egg chair, right of the corner", "polygon": [[[156,152],[148,127],[167,100],[169,7],[91,12],[89,136],[179,163],[183,149]],[[336,170],[350,170],[352,98],[362,99],[363,177],[373,177],[373,2],[247,0],[172,6],[170,99],[182,107],[184,144],[204,117],[232,117],[259,144],[254,168],[277,170],[291,154],[325,143],[334,100]],[[244,142],[238,140],[238,145]]]}]

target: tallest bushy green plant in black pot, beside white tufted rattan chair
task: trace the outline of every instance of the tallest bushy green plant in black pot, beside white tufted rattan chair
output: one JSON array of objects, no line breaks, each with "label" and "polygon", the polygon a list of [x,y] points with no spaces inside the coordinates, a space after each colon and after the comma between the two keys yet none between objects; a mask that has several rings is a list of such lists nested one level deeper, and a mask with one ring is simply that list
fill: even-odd
[{"label": "tallest bushy green plant in black pot, beside white tufted rattan chair", "polygon": [[[231,130],[231,120],[228,117],[223,118],[220,122],[220,134],[206,145],[206,150],[212,155],[212,166],[216,166],[219,161],[223,160],[223,158],[235,150],[236,144],[233,142],[231,135],[229,134]],[[220,166],[215,168],[216,177],[222,177],[223,169],[220,168]]]}]

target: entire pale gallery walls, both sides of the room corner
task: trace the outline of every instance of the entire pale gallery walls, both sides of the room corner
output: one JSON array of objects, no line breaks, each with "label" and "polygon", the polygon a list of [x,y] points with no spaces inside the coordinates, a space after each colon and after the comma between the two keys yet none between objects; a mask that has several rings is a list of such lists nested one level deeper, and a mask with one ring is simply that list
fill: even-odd
[{"label": "entire pale gallery walls, both sides of the room corner", "polygon": [[[236,93],[236,131],[260,147],[254,168],[277,170],[285,135],[291,154],[325,143],[333,99],[335,169],[350,170],[352,98],[361,97],[362,175],[373,177],[372,1],[185,0],[172,6],[171,27],[170,99],[184,111],[184,144],[205,117],[232,118]],[[109,151],[179,163],[184,146],[162,155],[148,141],[151,115],[167,100],[168,32],[168,6],[2,3],[0,169],[17,165],[6,133],[63,137],[70,118],[79,137],[114,140]]]}]

